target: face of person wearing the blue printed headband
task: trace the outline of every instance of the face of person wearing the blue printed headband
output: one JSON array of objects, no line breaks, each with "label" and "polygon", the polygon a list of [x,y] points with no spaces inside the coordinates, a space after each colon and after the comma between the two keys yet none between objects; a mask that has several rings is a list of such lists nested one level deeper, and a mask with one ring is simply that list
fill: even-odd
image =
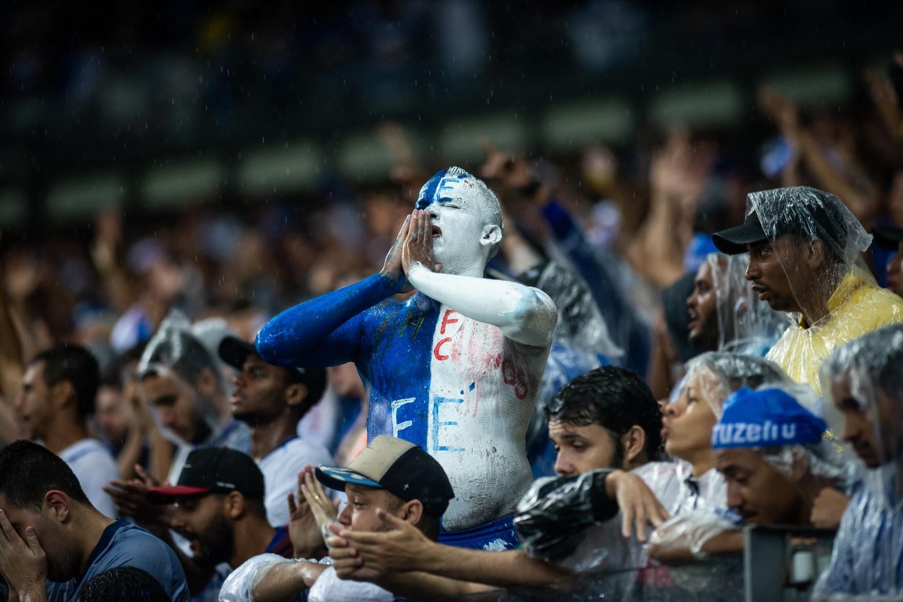
[{"label": "face of person wearing the blue printed headband", "polygon": [[794,483],[752,449],[719,449],[715,468],[728,486],[728,507],[747,523],[789,524],[798,520],[802,500]]}]

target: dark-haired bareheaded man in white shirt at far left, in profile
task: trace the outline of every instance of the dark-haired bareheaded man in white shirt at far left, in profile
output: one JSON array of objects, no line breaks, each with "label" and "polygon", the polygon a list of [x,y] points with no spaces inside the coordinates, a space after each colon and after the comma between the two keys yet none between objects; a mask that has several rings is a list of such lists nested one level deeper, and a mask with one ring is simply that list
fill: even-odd
[{"label": "dark-haired bareheaded man in white shirt at far left, in profile", "polygon": [[98,361],[87,349],[53,347],[28,365],[17,409],[29,438],[41,440],[65,460],[91,505],[116,518],[116,505],[102,488],[119,478],[116,461],[88,429],[99,378]]}]

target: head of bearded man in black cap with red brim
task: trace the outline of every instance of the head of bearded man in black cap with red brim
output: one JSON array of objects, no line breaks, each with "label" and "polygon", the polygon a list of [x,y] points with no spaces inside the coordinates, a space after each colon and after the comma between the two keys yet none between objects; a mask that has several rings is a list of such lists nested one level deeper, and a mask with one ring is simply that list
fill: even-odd
[{"label": "head of bearded man in black cap with red brim", "polygon": [[200,448],[189,454],[175,486],[151,487],[148,500],[172,505],[170,524],[190,542],[191,562],[213,570],[237,568],[252,556],[292,557],[285,527],[266,520],[264,475],[247,454]]}]

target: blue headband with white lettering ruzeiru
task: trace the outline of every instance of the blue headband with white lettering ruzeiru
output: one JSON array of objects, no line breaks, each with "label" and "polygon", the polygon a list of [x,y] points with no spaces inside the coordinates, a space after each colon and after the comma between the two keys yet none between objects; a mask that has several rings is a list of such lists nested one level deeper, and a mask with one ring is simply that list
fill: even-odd
[{"label": "blue headband with white lettering ruzeiru", "polygon": [[712,449],[809,445],[822,440],[827,424],[781,389],[743,387],[724,401],[712,429]]}]

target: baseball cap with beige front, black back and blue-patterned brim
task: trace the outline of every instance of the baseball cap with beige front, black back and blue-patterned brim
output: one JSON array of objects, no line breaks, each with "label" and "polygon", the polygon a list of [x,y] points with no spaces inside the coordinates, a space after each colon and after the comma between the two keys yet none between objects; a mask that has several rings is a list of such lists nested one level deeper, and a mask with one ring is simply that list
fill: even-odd
[{"label": "baseball cap with beige front, black back and blue-patterned brim", "polygon": [[330,489],[359,485],[385,489],[405,502],[420,500],[424,512],[436,518],[454,498],[452,484],[442,465],[414,443],[380,435],[372,440],[348,468],[318,466],[317,480]]}]

